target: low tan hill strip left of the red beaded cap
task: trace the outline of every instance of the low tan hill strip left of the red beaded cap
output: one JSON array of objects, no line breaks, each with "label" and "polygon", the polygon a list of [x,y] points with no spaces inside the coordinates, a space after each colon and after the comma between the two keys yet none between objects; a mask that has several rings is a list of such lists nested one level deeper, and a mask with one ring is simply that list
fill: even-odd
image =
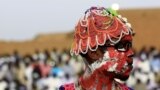
[{"label": "low tan hill strip left of the red beaded cap", "polygon": [[47,35],[38,35],[31,41],[16,42],[10,41],[0,42],[0,54],[10,53],[18,51],[20,54],[30,54],[34,53],[36,50],[64,50],[71,47],[72,39],[71,33],[62,33],[62,34],[47,34]]}]

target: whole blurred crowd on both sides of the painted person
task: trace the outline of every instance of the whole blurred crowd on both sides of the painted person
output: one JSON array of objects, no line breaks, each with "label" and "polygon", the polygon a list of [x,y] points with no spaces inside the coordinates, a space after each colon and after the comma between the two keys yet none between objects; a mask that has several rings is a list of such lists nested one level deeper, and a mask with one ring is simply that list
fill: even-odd
[{"label": "whole blurred crowd on both sides of the painted person", "polygon": [[[160,90],[160,51],[151,47],[135,51],[133,71],[124,82],[135,90]],[[58,90],[76,82],[84,63],[69,50],[36,50],[25,56],[17,51],[0,55],[0,90]]]}]

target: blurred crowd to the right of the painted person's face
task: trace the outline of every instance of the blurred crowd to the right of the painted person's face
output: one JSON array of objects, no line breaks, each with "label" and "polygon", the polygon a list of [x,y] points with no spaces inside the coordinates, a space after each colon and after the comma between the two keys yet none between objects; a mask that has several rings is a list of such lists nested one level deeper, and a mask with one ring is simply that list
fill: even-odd
[{"label": "blurred crowd to the right of the painted person's face", "polygon": [[133,70],[126,84],[135,90],[160,90],[160,51],[143,47],[135,51]]}]

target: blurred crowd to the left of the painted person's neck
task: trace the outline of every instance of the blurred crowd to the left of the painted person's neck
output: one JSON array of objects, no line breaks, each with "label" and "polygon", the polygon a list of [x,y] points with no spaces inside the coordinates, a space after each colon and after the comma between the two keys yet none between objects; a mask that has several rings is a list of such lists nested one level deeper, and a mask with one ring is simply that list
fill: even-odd
[{"label": "blurred crowd to the left of the painted person's neck", "polygon": [[80,57],[71,57],[69,50],[1,55],[0,90],[58,90],[60,85],[77,80],[82,63]]}]

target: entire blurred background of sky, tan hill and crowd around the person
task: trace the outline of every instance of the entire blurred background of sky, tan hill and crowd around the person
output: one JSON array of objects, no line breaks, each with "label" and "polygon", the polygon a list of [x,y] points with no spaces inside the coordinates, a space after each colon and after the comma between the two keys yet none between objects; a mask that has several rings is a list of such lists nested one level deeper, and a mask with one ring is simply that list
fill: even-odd
[{"label": "entire blurred background of sky, tan hill and crowd around the person", "polygon": [[0,0],[0,90],[57,90],[83,73],[71,57],[74,27],[91,6],[112,7],[136,35],[134,69],[124,82],[160,90],[160,1]]}]

